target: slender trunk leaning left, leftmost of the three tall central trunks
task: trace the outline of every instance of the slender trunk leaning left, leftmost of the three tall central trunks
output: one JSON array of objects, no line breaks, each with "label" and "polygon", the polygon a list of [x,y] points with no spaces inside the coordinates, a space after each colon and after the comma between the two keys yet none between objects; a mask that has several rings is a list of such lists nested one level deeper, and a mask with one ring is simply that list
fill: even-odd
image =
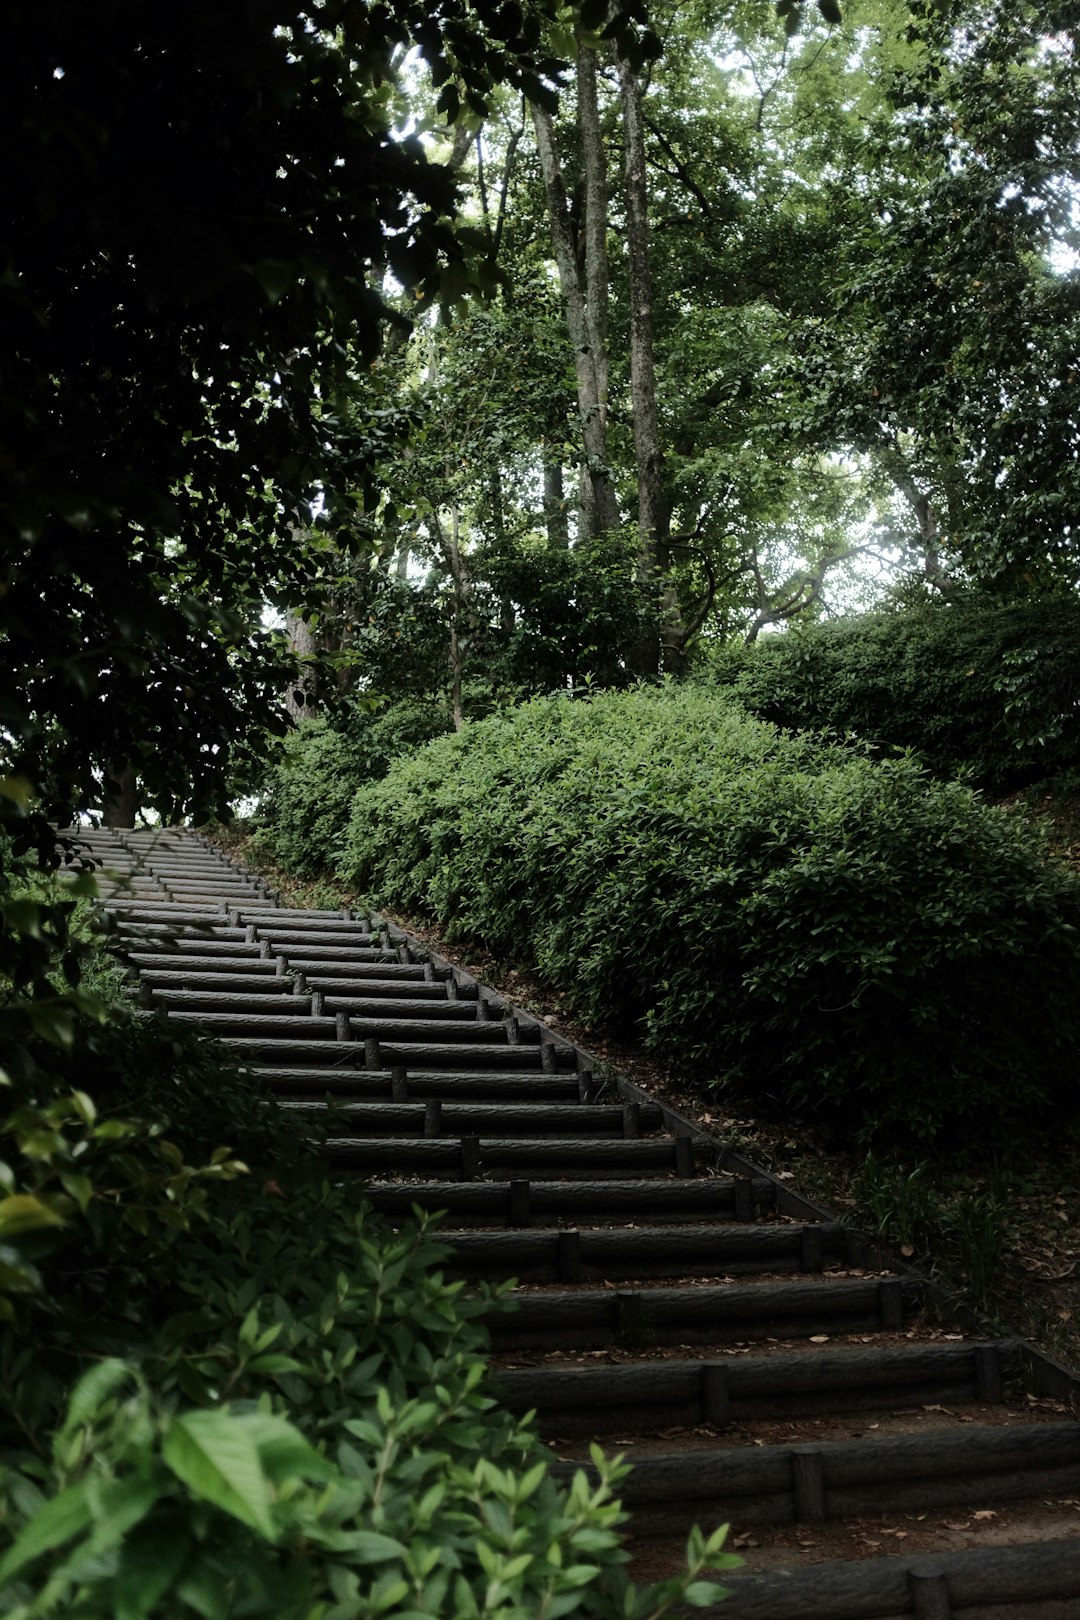
[{"label": "slender trunk leaning left, leftmost of the three tall central trunks", "polygon": [[602,535],[619,528],[619,504],[607,467],[607,434],[604,418],[606,399],[601,399],[601,382],[596,371],[596,356],[589,343],[589,327],[585,311],[585,288],[578,272],[576,245],[570,224],[570,207],[567,202],[567,185],[562,177],[559,151],[555,147],[555,130],[551,113],[542,107],[533,107],[533,126],[536,130],[536,149],[539,152],[544,191],[547,196],[547,214],[555,249],[555,266],[559,269],[559,287],[567,316],[570,347],[573,348],[573,369],[578,392],[578,411],[581,413],[581,442],[585,450],[585,467],[581,473],[581,530],[583,535]]}]

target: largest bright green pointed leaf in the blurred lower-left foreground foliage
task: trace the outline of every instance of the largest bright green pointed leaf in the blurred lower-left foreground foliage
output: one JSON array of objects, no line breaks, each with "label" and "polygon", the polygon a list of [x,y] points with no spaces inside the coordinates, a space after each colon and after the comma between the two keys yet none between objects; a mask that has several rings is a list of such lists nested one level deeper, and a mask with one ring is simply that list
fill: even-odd
[{"label": "largest bright green pointed leaf in the blurred lower-left foreground foliage", "polygon": [[270,1486],[244,1418],[225,1408],[185,1413],[165,1435],[162,1455],[176,1479],[204,1502],[277,1539],[270,1513]]}]

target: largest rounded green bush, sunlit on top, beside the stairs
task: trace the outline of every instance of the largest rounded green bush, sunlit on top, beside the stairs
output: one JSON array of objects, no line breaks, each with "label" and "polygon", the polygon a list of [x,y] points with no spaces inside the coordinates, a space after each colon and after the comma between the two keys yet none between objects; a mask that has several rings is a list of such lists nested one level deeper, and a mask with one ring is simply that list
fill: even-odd
[{"label": "largest rounded green bush, sunlit on top, beside the stairs", "polygon": [[1070,1084],[1080,881],[907,758],[699,688],[536,700],[356,795],[343,873],[803,1110],[1006,1129]]}]

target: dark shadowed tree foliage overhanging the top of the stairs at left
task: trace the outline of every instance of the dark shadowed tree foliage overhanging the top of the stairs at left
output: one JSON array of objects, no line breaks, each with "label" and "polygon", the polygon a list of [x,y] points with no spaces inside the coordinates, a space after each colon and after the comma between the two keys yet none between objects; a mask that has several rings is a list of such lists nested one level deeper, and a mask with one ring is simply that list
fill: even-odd
[{"label": "dark shadowed tree foliage overhanging the top of the stairs at left", "polygon": [[340,356],[382,280],[468,279],[455,180],[395,128],[395,62],[447,100],[541,99],[539,13],[492,0],[60,0],[6,21],[0,89],[0,690],[6,770],[58,815],[134,770],[223,807],[274,724],[262,604],[342,471]]}]

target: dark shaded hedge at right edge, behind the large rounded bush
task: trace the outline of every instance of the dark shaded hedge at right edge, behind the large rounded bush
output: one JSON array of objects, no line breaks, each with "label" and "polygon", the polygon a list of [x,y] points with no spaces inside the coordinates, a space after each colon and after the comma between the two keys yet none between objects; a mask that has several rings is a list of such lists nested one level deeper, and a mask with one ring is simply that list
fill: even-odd
[{"label": "dark shaded hedge at right edge, behind the large rounded bush", "polygon": [[1080,766],[1080,603],[960,598],[724,650],[714,679],[790,729],[915,748],[994,791]]}]

